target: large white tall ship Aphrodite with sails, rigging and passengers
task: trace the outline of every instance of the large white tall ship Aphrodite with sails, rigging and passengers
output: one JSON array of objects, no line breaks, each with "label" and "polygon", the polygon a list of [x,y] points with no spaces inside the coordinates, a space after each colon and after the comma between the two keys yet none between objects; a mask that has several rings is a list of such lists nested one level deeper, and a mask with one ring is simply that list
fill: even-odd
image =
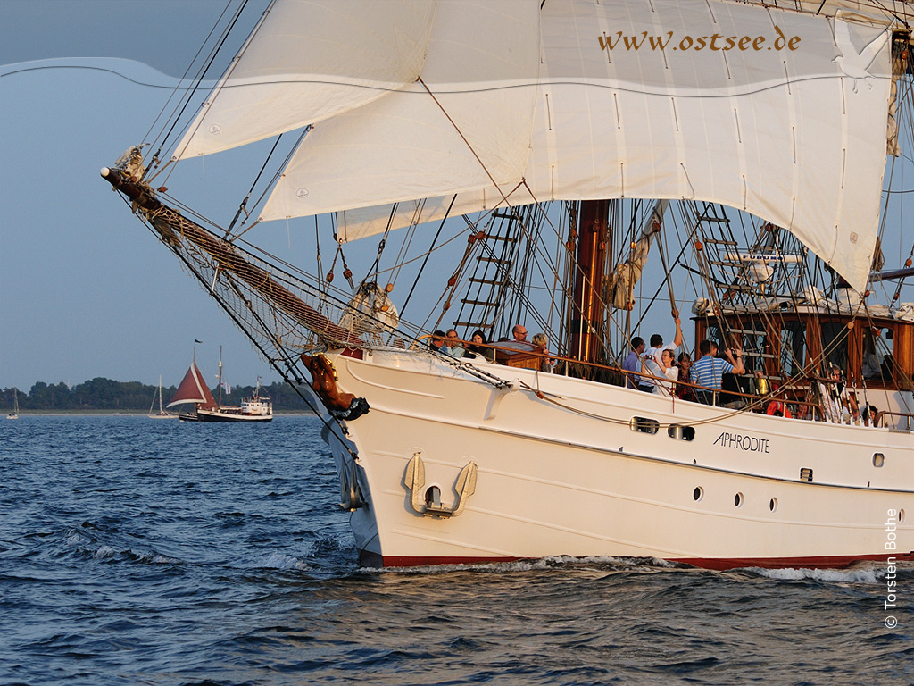
[{"label": "large white tall ship Aphrodite with sails, rigging and passengers", "polygon": [[363,564],[911,560],[914,12],[775,5],[277,0],[101,176]]}]

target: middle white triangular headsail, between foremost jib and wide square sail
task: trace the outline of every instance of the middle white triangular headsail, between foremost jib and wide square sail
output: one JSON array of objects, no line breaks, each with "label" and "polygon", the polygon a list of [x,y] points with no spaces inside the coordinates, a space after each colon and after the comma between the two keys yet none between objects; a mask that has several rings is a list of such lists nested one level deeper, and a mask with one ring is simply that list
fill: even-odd
[{"label": "middle white triangular headsail, between foremost jib and wide square sail", "polygon": [[538,24],[538,5],[526,0],[440,0],[421,82],[315,126],[260,218],[523,177],[537,98]]}]

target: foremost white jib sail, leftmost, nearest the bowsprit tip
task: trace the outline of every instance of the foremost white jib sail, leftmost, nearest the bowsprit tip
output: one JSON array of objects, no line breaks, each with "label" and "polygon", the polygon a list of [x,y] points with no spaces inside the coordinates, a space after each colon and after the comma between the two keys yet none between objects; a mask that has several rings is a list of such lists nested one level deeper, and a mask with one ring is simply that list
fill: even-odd
[{"label": "foremost white jib sail, leftmost, nearest the bowsprit tip", "polygon": [[433,0],[271,5],[175,148],[208,155],[320,122],[420,75]]}]

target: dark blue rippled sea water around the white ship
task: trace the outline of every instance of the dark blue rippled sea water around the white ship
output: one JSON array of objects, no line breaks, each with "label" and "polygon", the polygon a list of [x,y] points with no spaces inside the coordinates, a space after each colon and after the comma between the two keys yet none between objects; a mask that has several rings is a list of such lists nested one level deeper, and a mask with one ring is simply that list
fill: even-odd
[{"label": "dark blue rippled sea water around the white ship", "polygon": [[312,417],[0,421],[2,684],[914,683],[910,567],[365,570]]}]

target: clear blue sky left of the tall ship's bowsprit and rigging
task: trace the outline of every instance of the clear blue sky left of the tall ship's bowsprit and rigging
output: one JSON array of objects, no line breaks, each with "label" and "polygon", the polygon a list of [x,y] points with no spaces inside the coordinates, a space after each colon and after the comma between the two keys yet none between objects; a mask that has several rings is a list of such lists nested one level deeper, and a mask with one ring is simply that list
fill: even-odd
[{"label": "clear blue sky left of the tall ship's bowsprit and rigging", "polygon": [[177,383],[194,338],[208,376],[221,344],[232,383],[278,380],[99,176],[223,6],[0,0],[0,386]]}]

